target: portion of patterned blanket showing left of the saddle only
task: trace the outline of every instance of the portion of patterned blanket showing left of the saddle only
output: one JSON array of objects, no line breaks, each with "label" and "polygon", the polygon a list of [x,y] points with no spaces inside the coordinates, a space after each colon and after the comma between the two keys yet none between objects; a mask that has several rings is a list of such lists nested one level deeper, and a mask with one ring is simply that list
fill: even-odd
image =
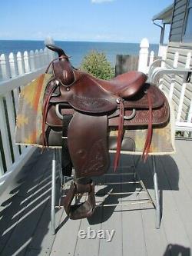
[{"label": "portion of patterned blanket showing left of the saddle only", "polygon": [[50,78],[50,74],[40,75],[22,88],[18,100],[16,144],[40,146],[38,143],[42,128],[41,105]]}]

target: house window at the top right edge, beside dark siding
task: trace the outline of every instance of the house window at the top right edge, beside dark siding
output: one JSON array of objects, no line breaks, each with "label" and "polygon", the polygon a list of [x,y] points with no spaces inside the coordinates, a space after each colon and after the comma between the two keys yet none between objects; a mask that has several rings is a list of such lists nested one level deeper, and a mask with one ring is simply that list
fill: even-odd
[{"label": "house window at the top right edge, beside dark siding", "polygon": [[192,0],[189,0],[184,25],[184,42],[192,42]]}]

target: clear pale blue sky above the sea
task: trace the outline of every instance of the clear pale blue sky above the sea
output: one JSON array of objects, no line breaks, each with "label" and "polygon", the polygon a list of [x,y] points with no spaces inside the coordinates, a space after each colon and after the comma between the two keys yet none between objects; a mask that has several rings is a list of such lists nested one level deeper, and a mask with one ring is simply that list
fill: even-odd
[{"label": "clear pale blue sky above the sea", "polygon": [[173,0],[5,0],[0,39],[141,42],[159,41],[151,18]]}]

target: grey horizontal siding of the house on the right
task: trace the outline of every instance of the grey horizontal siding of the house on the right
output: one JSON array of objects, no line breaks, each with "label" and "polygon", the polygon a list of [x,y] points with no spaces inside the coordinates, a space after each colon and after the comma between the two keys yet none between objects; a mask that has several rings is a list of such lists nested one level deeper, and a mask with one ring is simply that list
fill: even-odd
[{"label": "grey horizontal siding of the house on the right", "polygon": [[[191,55],[192,55],[192,42],[188,44],[182,42],[186,9],[187,9],[187,0],[175,0],[173,18],[172,18],[172,23],[170,28],[170,42],[167,47],[166,60],[170,66],[173,66],[175,53],[178,52],[179,53],[179,58],[177,62],[178,68],[185,67],[188,52],[191,52]],[[190,58],[190,68],[192,68],[191,58]],[[170,75],[164,75],[163,88],[164,88],[164,91],[166,91],[167,93],[170,90],[171,82],[173,82],[173,78],[171,78]],[[174,94],[173,94],[173,101],[174,101],[174,107],[176,112],[179,106],[180,93],[181,93],[183,83],[184,83],[184,77],[181,75],[176,75],[174,78]],[[192,98],[192,81],[190,81],[186,85],[187,86],[186,86],[184,104],[182,108],[180,121],[186,120],[187,111],[189,111],[190,101]]]}]

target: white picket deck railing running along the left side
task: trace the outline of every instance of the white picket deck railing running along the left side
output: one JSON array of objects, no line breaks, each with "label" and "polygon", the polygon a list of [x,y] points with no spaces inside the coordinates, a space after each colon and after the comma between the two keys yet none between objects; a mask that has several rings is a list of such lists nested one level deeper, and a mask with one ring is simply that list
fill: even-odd
[{"label": "white picket deck railing running along the left side", "polygon": [[32,147],[15,145],[15,114],[20,88],[45,72],[52,58],[47,48],[0,55],[0,194],[8,178],[13,178],[35,151]]}]

